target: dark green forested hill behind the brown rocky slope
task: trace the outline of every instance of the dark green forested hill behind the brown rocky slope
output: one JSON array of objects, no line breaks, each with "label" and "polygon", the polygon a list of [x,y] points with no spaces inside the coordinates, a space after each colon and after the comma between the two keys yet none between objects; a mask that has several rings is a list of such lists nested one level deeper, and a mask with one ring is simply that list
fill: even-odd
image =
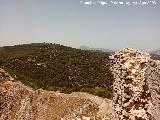
[{"label": "dark green forested hill behind the brown rocky slope", "polygon": [[51,43],[0,48],[0,66],[34,89],[89,92],[112,97],[109,54]]}]

